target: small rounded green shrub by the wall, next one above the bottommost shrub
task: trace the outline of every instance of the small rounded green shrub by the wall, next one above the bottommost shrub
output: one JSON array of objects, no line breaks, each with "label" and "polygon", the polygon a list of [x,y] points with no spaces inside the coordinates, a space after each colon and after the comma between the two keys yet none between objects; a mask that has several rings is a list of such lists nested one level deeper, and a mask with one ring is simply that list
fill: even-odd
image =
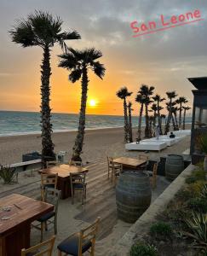
[{"label": "small rounded green shrub by the wall, next one above the bottommost shrub", "polygon": [[170,238],[173,234],[173,230],[170,224],[159,221],[155,224],[152,224],[150,228],[150,233],[152,236],[163,239]]}]

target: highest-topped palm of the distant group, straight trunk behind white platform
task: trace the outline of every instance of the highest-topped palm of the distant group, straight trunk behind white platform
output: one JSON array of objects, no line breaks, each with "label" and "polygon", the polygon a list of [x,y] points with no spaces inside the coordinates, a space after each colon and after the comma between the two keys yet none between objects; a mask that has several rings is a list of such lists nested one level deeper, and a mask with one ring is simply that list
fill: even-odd
[{"label": "highest-topped palm of the distant group, straight trunk behind white platform", "polygon": [[145,97],[145,119],[146,119],[146,126],[145,126],[145,137],[150,137],[149,135],[149,113],[148,113],[148,106],[151,101],[151,97],[153,94],[154,87],[148,86],[146,84],[142,84],[140,88],[140,93]]}]

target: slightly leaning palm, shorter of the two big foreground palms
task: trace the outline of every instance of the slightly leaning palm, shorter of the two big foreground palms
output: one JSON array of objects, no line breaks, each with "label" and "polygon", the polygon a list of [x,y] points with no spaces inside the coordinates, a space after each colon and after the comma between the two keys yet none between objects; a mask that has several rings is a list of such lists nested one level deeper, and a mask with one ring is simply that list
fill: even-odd
[{"label": "slightly leaning palm, shorter of the two big foreground palms", "polygon": [[72,152],[72,160],[82,161],[80,154],[83,148],[84,130],[85,130],[85,111],[87,103],[87,91],[89,85],[88,72],[92,70],[100,79],[105,74],[105,67],[97,59],[101,58],[100,50],[91,49],[72,49],[69,48],[66,53],[60,55],[59,67],[66,68],[69,74],[69,80],[75,83],[81,79],[81,108],[79,114],[78,134]]}]

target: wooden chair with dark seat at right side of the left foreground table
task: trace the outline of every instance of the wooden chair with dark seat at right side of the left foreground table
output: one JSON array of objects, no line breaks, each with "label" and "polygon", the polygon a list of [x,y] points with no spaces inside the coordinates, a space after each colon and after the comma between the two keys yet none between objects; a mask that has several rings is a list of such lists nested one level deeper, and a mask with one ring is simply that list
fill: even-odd
[{"label": "wooden chair with dark seat at right side of the left foreground table", "polygon": [[32,228],[41,231],[41,241],[43,241],[43,228],[48,230],[48,224],[54,224],[55,235],[57,234],[57,214],[58,214],[58,205],[60,201],[60,190],[46,188],[45,189],[45,202],[55,206],[54,211],[49,212],[37,219],[37,222],[40,224],[32,224]]}]

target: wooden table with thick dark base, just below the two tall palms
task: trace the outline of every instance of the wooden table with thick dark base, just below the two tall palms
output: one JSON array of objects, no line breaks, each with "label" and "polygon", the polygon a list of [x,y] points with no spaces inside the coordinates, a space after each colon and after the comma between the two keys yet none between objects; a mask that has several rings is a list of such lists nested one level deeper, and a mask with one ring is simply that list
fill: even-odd
[{"label": "wooden table with thick dark base, just below the two tall palms", "polygon": [[40,172],[45,174],[58,174],[57,189],[61,190],[61,199],[71,196],[70,173],[83,173],[89,170],[83,166],[60,165],[43,169]]}]

